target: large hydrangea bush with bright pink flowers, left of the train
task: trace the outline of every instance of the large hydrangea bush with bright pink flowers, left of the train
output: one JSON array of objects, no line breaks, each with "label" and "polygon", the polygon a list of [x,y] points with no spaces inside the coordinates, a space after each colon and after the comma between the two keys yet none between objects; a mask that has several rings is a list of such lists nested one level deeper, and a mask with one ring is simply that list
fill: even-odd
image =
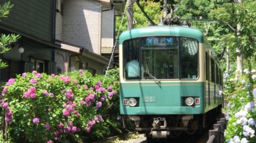
[{"label": "large hydrangea bush with bright pink flowers, left of the train", "polygon": [[110,116],[119,120],[111,102],[119,99],[118,81],[110,78],[102,84],[102,79],[84,70],[67,75],[33,71],[10,79],[0,99],[10,140],[50,143],[66,142],[70,136],[88,139],[85,133],[99,129],[101,123],[112,123]]}]

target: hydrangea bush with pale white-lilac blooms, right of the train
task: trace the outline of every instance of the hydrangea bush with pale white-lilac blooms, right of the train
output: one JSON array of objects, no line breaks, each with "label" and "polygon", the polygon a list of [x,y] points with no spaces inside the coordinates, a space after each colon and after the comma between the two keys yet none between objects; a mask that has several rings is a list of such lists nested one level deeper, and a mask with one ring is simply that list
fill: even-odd
[{"label": "hydrangea bush with pale white-lilac blooms, right of the train", "polygon": [[255,86],[256,70],[245,69],[224,74],[224,90],[229,103],[224,107],[225,118],[228,120],[225,129],[226,142],[256,142],[255,137]]}]

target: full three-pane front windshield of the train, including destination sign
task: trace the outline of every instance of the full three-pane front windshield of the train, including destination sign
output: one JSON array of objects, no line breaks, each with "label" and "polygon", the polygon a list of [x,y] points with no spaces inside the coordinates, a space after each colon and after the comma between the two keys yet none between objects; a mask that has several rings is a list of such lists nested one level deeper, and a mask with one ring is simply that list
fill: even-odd
[{"label": "full three-pane front windshield of the train, including destination sign", "polygon": [[123,42],[125,80],[181,79],[199,76],[199,44],[193,38],[154,36]]}]

